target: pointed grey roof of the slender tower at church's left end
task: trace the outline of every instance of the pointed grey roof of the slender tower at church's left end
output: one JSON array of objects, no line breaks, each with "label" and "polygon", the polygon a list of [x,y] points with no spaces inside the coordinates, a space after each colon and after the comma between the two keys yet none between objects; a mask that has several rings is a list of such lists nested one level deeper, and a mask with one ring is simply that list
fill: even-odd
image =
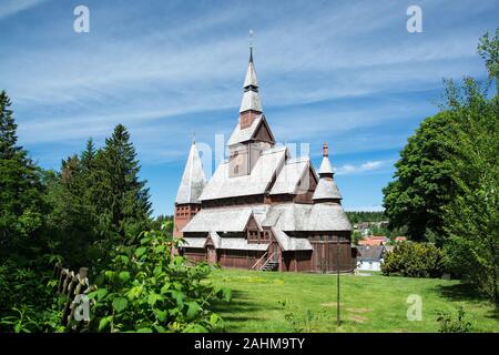
[{"label": "pointed grey roof of the slender tower at church's left end", "polygon": [[203,165],[196,144],[193,142],[189,152],[179,190],[176,191],[175,203],[200,203],[200,195],[206,184]]}]

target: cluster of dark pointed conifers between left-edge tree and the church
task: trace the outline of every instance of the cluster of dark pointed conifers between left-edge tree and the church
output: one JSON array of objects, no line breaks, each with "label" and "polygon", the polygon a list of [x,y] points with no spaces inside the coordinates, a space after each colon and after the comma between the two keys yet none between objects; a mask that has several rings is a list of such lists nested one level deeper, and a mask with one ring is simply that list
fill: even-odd
[{"label": "cluster of dark pointed conifers between left-edge tree and the church", "polygon": [[45,174],[48,229],[71,246],[61,251],[69,265],[105,265],[110,247],[150,229],[149,191],[135,158],[119,124],[103,149],[89,140],[80,155],[62,161],[59,173]]}]

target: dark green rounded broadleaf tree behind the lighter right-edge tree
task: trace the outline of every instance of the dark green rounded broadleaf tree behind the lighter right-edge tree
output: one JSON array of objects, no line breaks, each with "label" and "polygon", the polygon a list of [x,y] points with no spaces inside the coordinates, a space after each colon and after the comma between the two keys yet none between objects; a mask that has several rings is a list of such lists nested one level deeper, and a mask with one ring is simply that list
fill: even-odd
[{"label": "dark green rounded broadleaf tree behind the lighter right-edge tree", "polygon": [[383,190],[390,226],[407,226],[407,234],[415,241],[425,240],[428,231],[441,233],[442,207],[454,197],[450,166],[445,158],[449,146],[441,140],[448,126],[448,112],[424,120],[395,164],[395,180]]}]

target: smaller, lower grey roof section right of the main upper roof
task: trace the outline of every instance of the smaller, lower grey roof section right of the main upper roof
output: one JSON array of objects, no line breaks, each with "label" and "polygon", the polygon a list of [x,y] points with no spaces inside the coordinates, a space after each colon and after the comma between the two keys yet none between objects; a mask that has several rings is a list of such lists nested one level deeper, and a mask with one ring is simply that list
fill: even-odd
[{"label": "smaller, lower grey roof section right of the main upper roof", "polygon": [[[271,190],[271,195],[274,194],[298,194],[308,190],[307,172],[310,166],[310,161],[307,156],[298,159],[289,159],[281,170],[274,185]],[[299,185],[298,185],[299,183]]]}]

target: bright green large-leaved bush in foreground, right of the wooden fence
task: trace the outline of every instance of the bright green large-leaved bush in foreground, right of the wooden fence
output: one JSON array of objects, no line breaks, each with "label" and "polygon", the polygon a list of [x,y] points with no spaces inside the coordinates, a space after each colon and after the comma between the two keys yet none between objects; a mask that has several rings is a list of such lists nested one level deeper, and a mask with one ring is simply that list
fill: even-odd
[{"label": "bright green large-leaved bush in foreground, right of the wooden fence", "polygon": [[173,256],[179,240],[163,232],[145,232],[140,245],[121,245],[112,263],[96,278],[89,297],[91,332],[216,332],[223,321],[210,310],[215,300],[231,301],[231,291],[205,278],[207,264],[187,266]]}]

